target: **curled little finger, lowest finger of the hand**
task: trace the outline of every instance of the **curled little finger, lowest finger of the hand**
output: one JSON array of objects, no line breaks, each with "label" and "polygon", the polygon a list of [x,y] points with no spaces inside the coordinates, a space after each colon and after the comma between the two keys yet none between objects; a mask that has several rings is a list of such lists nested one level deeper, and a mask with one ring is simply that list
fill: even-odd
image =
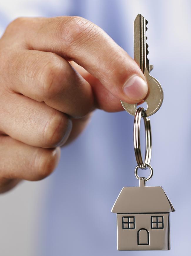
[{"label": "curled little finger, lowest finger of the hand", "polygon": [[0,192],[19,180],[41,180],[53,172],[60,159],[60,148],[43,149],[26,145],[9,136],[0,136]]}]

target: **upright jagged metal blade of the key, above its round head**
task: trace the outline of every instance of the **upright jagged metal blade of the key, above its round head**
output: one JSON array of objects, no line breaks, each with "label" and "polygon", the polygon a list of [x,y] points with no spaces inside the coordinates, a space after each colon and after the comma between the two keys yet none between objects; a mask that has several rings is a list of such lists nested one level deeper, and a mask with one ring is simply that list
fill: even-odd
[{"label": "upright jagged metal blade of the key, above its round head", "polygon": [[134,60],[139,65],[143,74],[145,68],[149,71],[148,44],[146,43],[146,35],[148,21],[138,14],[134,21]]}]

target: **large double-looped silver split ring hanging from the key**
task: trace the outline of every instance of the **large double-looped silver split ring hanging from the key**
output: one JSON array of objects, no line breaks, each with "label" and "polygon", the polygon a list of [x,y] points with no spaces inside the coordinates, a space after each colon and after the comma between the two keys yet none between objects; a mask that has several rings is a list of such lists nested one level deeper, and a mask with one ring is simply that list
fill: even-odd
[{"label": "large double-looped silver split ring hanging from the key", "polygon": [[[144,124],[145,124],[145,138],[146,138],[145,162],[143,162],[141,149],[140,149],[141,117],[143,117]],[[138,167],[140,169],[145,169],[147,168],[147,164],[150,164],[151,153],[152,153],[152,139],[151,139],[150,119],[145,116],[145,109],[143,107],[139,107],[135,113],[133,139],[134,139],[135,157],[137,160]]]}]

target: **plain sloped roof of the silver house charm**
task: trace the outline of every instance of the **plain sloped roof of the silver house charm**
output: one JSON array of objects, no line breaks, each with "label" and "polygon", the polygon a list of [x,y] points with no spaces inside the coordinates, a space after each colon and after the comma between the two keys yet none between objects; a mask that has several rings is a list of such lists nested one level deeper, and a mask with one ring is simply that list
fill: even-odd
[{"label": "plain sloped roof of the silver house charm", "polygon": [[145,187],[140,179],[139,187],[123,187],[113,213],[169,213],[175,211],[162,187]]}]

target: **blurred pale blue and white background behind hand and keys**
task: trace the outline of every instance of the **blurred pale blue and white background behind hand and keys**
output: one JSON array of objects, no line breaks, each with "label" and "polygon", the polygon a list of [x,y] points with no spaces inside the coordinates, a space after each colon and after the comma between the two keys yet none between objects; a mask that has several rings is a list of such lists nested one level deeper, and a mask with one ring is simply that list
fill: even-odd
[{"label": "blurred pale blue and white background behind hand and keys", "polygon": [[162,185],[176,210],[170,214],[170,251],[117,251],[116,216],[111,208],[122,187],[138,186],[133,117],[125,111],[96,110],[83,134],[62,149],[50,177],[21,182],[0,195],[0,255],[188,255],[190,7],[186,0],[0,2],[1,35],[16,17],[78,15],[103,28],[132,57],[133,21],[138,13],[148,20],[151,75],[162,85],[164,102],[150,118],[154,175],[147,185]]}]

